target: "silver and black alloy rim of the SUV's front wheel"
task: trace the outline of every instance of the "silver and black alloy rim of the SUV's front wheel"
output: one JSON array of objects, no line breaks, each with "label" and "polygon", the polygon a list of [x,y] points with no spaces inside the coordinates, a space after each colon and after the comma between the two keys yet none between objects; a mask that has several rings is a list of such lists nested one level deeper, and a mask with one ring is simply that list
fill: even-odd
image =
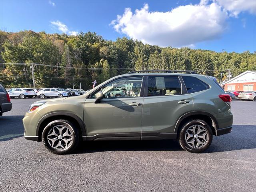
[{"label": "silver and black alloy rim of the SUV's front wheel", "polygon": [[56,125],[47,134],[50,146],[57,150],[67,149],[73,142],[73,134],[70,128],[64,125]]}]

